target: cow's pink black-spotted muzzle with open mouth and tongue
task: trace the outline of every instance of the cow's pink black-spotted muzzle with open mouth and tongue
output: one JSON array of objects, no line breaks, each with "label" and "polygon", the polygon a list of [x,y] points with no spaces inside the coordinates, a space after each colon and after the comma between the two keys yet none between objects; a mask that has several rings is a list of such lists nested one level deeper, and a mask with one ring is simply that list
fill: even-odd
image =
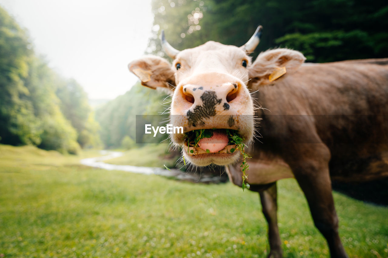
[{"label": "cow's pink black-spotted muzzle with open mouth and tongue", "polygon": [[253,139],[253,114],[249,91],[238,78],[221,73],[192,76],[175,89],[171,123],[182,126],[184,133],[171,139],[194,165],[227,165],[239,157],[232,136],[244,143]]}]

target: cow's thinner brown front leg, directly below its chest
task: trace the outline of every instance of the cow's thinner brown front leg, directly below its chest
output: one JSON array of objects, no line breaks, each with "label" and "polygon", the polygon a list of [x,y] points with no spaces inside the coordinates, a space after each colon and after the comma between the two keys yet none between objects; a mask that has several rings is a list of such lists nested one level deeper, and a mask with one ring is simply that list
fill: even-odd
[{"label": "cow's thinner brown front leg, directly below its chest", "polygon": [[262,202],[263,214],[268,222],[268,242],[270,253],[268,258],[282,257],[282,247],[277,227],[277,189],[276,183],[268,189],[259,192]]}]

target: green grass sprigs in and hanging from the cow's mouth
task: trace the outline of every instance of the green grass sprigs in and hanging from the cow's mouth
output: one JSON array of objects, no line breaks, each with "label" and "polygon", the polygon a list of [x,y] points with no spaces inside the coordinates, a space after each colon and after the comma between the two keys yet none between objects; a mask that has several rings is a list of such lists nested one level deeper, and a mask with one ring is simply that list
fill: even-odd
[{"label": "green grass sprigs in and hanging from the cow's mouth", "polygon": [[[186,133],[186,139],[187,141],[187,146],[188,147],[198,147],[198,143],[201,139],[203,138],[211,138],[213,136],[213,132],[215,130],[225,130],[228,138],[229,138],[229,143],[228,145],[236,144],[236,149],[238,149],[242,155],[242,163],[241,163],[241,171],[242,171],[242,191],[244,191],[245,188],[249,189],[249,184],[246,182],[248,179],[248,176],[246,175],[246,171],[249,169],[249,165],[247,163],[247,160],[251,158],[251,156],[245,152],[245,147],[246,145],[244,144],[244,138],[242,138],[239,134],[238,131],[236,130],[231,130],[231,129],[199,129],[199,130],[193,130],[190,132]],[[194,150],[190,150],[190,148],[187,149],[191,153],[194,153]],[[230,149],[230,152],[234,152],[235,149]],[[209,153],[209,150],[206,150],[207,153]]]}]

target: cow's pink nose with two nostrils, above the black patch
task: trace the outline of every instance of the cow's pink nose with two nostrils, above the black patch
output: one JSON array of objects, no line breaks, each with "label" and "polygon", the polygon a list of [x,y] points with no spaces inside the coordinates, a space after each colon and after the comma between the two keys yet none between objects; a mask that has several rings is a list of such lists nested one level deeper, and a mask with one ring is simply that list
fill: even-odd
[{"label": "cow's pink nose with two nostrils, above the black patch", "polygon": [[190,103],[195,103],[196,101],[203,100],[205,92],[214,92],[217,95],[217,98],[226,100],[230,102],[237,97],[239,91],[239,83],[224,83],[215,86],[198,86],[192,84],[186,84],[183,86],[183,93],[185,98]]}]

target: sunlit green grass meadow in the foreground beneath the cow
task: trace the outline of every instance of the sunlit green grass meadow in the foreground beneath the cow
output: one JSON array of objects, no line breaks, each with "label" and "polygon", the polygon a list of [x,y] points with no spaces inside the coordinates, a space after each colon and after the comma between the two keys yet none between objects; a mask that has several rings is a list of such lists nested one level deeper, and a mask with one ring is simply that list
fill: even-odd
[{"label": "sunlit green grass meadow in the foreground beneath the cow", "polygon": [[[92,169],[78,165],[80,158],[0,145],[0,258],[268,253],[257,193]],[[296,182],[280,181],[278,189],[284,256],[327,257]],[[388,208],[338,193],[334,199],[349,256],[387,257]]]}]

